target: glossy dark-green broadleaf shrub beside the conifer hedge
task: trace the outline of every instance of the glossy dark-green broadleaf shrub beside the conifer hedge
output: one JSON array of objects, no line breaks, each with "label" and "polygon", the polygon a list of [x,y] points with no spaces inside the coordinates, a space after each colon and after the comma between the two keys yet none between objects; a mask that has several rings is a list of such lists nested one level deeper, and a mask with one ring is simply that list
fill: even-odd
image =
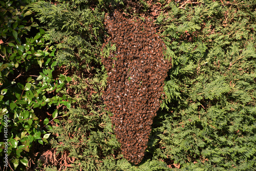
[{"label": "glossy dark-green broadleaf shrub beside the conifer hedge", "polygon": [[0,133],[7,136],[8,151],[4,153],[1,139],[0,156],[8,155],[8,167],[1,162],[5,170],[25,170],[36,162],[35,145],[48,143],[51,118],[40,111],[61,105],[70,108],[72,102],[56,93],[51,97],[65,90],[70,78],[53,78],[56,49],[46,39],[45,29],[33,22],[30,5],[34,2],[1,1]]}]

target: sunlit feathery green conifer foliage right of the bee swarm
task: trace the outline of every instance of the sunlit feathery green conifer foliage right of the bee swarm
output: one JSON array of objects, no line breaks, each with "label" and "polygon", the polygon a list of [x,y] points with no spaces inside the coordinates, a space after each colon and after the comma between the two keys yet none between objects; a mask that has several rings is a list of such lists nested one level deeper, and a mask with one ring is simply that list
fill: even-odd
[{"label": "sunlit feathery green conifer foliage right of the bee swarm", "polygon": [[184,170],[252,170],[255,3],[169,7],[156,21],[174,59],[158,128],[161,157]]}]

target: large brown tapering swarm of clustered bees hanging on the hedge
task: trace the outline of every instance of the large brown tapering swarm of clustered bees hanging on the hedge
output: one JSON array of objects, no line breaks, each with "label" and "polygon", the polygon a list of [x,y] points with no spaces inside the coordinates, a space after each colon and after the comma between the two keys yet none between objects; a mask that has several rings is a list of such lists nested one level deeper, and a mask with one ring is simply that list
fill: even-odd
[{"label": "large brown tapering swarm of clustered bees hanging on the hedge", "polygon": [[134,164],[143,159],[153,118],[160,106],[163,82],[170,68],[165,45],[146,18],[127,19],[120,12],[107,16],[105,27],[116,51],[102,57],[108,72],[103,100],[113,113],[112,124],[123,156]]}]

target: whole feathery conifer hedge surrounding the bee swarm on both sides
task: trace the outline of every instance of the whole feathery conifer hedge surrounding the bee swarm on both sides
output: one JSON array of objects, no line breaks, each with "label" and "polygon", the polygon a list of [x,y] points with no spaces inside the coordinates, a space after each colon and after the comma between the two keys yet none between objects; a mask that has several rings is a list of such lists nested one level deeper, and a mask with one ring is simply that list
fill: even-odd
[{"label": "whole feathery conifer hedge surrounding the bee swarm on both sides", "polygon": [[[152,17],[173,59],[166,98],[138,166],[121,154],[101,98],[108,77],[100,58],[108,36],[103,18],[114,7]],[[36,3],[33,10],[57,48],[55,60],[70,71],[67,92],[61,93],[76,100],[53,126],[53,148],[41,157],[44,169],[256,168],[255,8],[254,1],[225,0]]]}]

